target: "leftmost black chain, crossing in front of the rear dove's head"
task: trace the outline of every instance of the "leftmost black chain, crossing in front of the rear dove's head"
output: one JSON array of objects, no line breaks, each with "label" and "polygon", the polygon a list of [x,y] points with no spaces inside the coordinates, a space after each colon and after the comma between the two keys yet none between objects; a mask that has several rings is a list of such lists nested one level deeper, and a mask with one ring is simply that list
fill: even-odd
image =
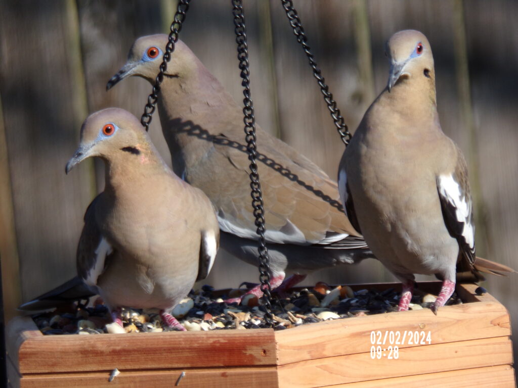
[{"label": "leftmost black chain, crossing in front of the rear dove's head", "polygon": [[149,131],[149,124],[151,123],[151,120],[153,118],[153,113],[156,108],[156,102],[159,99],[158,94],[160,92],[160,84],[164,80],[164,73],[167,70],[167,62],[171,60],[171,54],[173,51],[175,51],[175,43],[178,41],[178,35],[182,30],[182,23],[185,21],[185,14],[189,10],[190,2],[191,0],[180,0],[175,13],[175,18],[171,23],[169,41],[167,42],[165,47],[165,53],[162,59],[162,63],[160,64],[160,71],[156,75],[153,90],[151,94],[148,96],[148,103],[144,107],[144,113],[142,113],[142,117],[140,118],[140,123],[143,127],[146,128],[146,131]]}]

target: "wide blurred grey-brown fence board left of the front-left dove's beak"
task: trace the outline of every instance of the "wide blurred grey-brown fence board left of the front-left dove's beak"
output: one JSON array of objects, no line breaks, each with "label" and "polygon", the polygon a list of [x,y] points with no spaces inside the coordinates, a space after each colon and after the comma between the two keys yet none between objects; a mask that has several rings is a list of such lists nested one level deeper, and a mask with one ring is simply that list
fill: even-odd
[{"label": "wide blurred grey-brown fence board left of the front-left dove's beak", "polygon": [[[65,178],[77,147],[76,61],[70,2],[0,4],[0,85],[23,300],[75,273],[82,214],[91,197],[88,163]],[[79,81],[80,82],[80,81]],[[66,277],[65,277],[66,278]]]}]

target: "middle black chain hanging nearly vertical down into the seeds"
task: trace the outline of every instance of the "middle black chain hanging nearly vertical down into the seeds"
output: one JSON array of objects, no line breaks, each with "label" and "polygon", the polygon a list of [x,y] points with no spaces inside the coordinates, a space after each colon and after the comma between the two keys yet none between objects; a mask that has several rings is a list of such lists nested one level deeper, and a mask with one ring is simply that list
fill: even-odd
[{"label": "middle black chain hanging nearly vertical down into the seeds", "polygon": [[271,285],[270,285],[270,259],[268,257],[268,249],[266,248],[264,226],[264,202],[263,194],[261,192],[261,183],[259,182],[259,173],[257,171],[257,145],[255,136],[255,117],[254,105],[250,93],[250,69],[248,62],[248,44],[247,44],[247,29],[244,25],[244,10],[242,0],[232,0],[234,15],[234,25],[236,26],[236,43],[237,43],[237,58],[239,59],[239,69],[241,70],[241,78],[243,81],[243,122],[244,133],[246,133],[248,159],[250,160],[250,187],[252,188],[252,207],[254,208],[255,226],[257,227],[258,251],[259,251],[259,280],[261,282],[261,290],[263,291],[263,302],[266,307],[265,320],[273,327],[274,317],[271,314]]}]

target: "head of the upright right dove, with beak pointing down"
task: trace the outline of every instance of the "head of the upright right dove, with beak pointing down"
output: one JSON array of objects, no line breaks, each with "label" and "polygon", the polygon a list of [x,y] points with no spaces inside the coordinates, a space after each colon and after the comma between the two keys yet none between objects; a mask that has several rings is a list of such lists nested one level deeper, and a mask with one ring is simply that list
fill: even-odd
[{"label": "head of the upright right dove, with beak pointing down", "polygon": [[414,29],[395,33],[386,43],[386,55],[390,60],[389,92],[407,80],[424,81],[435,89],[434,57],[422,33]]}]

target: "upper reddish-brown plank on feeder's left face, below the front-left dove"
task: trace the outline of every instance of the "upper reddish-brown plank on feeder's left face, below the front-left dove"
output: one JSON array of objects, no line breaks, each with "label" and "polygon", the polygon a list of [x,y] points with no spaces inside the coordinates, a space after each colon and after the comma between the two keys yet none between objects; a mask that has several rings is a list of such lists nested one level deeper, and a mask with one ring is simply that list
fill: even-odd
[{"label": "upper reddish-brown plank on feeder's left face, below the front-left dove", "polygon": [[271,329],[36,336],[25,340],[18,354],[22,375],[99,370],[99,360],[110,370],[276,363]]}]

